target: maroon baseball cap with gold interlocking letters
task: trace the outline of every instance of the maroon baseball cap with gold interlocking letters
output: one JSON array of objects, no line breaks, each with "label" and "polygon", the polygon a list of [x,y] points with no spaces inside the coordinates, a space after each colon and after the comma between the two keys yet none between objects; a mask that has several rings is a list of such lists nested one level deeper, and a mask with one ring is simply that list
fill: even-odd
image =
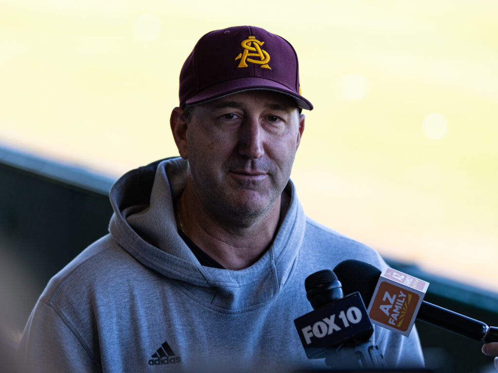
[{"label": "maroon baseball cap with gold interlocking letters", "polygon": [[301,95],[297,54],[287,40],[254,26],[200,38],[180,72],[180,107],[249,90],[285,93],[298,107],[313,108]]}]

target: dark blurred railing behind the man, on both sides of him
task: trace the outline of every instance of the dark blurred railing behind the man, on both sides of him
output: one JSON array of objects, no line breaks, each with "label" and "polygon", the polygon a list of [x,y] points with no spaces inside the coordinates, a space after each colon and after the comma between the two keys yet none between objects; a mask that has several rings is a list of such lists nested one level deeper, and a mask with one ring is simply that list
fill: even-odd
[{"label": "dark blurred railing behind the man, on both sides of him", "polygon": [[[47,281],[82,249],[107,233],[114,180],[79,167],[0,147],[0,333],[24,327]],[[429,281],[425,300],[498,326],[498,293],[387,260]],[[484,373],[492,359],[482,343],[416,322],[430,368],[441,373]],[[15,338],[14,338],[15,339]]]}]

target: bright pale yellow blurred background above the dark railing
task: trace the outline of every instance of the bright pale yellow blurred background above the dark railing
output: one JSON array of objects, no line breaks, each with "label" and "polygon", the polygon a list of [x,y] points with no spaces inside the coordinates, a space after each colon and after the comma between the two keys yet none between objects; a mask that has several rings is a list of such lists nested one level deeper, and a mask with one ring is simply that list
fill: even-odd
[{"label": "bright pale yellow blurred background above the dark railing", "polygon": [[292,173],[306,213],[495,292],[497,19],[491,0],[0,0],[0,146],[109,182],[177,155],[183,61],[208,31],[260,26],[294,46],[315,106]]}]

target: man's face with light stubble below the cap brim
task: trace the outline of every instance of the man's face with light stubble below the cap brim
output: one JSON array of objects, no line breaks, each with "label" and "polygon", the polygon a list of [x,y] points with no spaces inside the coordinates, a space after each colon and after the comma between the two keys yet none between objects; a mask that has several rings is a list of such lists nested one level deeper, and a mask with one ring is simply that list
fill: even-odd
[{"label": "man's face with light stubble below the cap brim", "polygon": [[248,224],[280,201],[303,129],[304,115],[281,93],[248,91],[196,105],[182,154],[187,187],[218,219]]}]

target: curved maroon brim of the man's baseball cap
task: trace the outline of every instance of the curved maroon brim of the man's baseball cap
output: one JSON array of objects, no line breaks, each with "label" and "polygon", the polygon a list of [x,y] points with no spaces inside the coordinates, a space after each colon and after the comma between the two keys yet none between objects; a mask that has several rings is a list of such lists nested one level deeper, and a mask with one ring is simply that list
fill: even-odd
[{"label": "curved maroon brim of the man's baseball cap", "polygon": [[196,105],[203,102],[208,102],[220,97],[227,96],[233,93],[239,93],[251,90],[267,90],[279,93],[284,93],[292,98],[301,109],[311,110],[313,105],[306,98],[300,94],[296,94],[291,89],[264,78],[240,78],[227,82],[218,83],[214,86],[208,87],[201,92],[195,94],[185,101],[186,105]]}]

